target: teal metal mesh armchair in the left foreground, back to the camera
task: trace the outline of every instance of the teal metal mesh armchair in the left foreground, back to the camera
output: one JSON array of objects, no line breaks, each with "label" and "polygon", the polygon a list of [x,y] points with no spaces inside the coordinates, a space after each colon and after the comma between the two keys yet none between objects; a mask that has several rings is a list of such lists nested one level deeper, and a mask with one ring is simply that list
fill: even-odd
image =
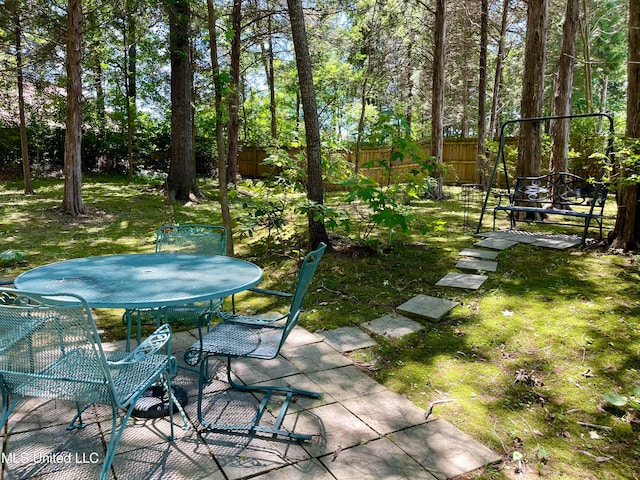
[{"label": "teal metal mesh armchair in the left foreground, back to the camera", "polygon": [[[109,352],[103,350],[91,311],[82,298],[0,289],[0,429],[4,430],[16,405],[26,397],[75,402],[77,414],[67,430],[86,426],[82,414],[90,405],[110,405],[111,437],[100,477],[106,479],[138,399],[157,382],[172,391],[176,361],[170,351],[168,325],[132,352]],[[169,440],[174,437],[173,402],[173,395],[169,395]],[[120,410],[125,413],[118,426]]]}]

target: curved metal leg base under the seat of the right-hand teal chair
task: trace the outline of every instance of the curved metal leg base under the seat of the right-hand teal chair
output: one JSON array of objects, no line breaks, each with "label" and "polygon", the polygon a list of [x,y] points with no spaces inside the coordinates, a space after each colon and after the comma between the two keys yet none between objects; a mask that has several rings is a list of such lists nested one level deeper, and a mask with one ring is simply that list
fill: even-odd
[{"label": "curved metal leg base under the seat of the right-hand teal chair", "polygon": [[[198,382],[198,421],[200,424],[207,430],[211,431],[222,431],[222,432],[240,432],[240,431],[248,431],[249,433],[268,433],[273,435],[274,437],[285,437],[299,441],[310,440],[313,435],[305,434],[305,433],[296,433],[284,430],[282,428],[282,422],[284,421],[284,417],[289,409],[289,405],[294,397],[294,395],[303,395],[310,398],[322,398],[323,394],[320,392],[311,392],[308,390],[300,390],[297,388],[283,387],[280,385],[241,385],[236,383],[231,378],[231,357],[227,357],[227,381],[229,385],[235,390],[241,391],[249,391],[249,392],[264,392],[265,396],[260,402],[260,405],[256,409],[256,413],[253,417],[253,420],[250,424],[246,425],[225,425],[212,423],[204,418],[204,414],[202,411],[202,400],[203,400],[203,391],[205,385],[205,378],[207,372],[207,364],[208,364],[209,356],[205,357],[200,364],[200,376]],[[285,394],[285,399],[282,402],[280,407],[280,411],[276,418],[276,421],[273,427],[260,425],[260,420],[262,419],[264,413],[267,411],[267,407],[269,405],[269,401],[271,400],[274,393],[282,393]]]}]

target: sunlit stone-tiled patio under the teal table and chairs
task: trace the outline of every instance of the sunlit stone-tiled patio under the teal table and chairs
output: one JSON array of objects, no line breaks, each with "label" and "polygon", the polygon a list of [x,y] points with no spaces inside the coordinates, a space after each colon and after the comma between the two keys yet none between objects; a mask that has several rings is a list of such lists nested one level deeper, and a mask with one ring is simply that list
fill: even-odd
[{"label": "sunlit stone-tiled patio under the teal table and chairs", "polygon": [[[192,332],[174,335],[178,359],[195,338]],[[234,373],[244,383],[269,380],[324,392],[322,400],[299,398],[285,420],[288,429],[313,434],[312,441],[201,431],[196,414],[197,376],[180,369],[174,383],[189,395],[185,411],[190,429],[183,430],[176,415],[176,440],[169,442],[166,419],[131,419],[111,478],[433,480],[501,461],[445,419],[434,415],[425,419],[422,409],[376,383],[323,337],[301,328],[289,337],[282,356],[261,363],[238,362]],[[226,390],[224,382],[214,379],[205,402],[208,418],[239,422],[253,415],[257,400]],[[85,429],[66,431],[74,413],[69,402],[30,399],[22,403],[0,437],[2,478],[98,478],[111,429],[109,411],[92,408]]]}]

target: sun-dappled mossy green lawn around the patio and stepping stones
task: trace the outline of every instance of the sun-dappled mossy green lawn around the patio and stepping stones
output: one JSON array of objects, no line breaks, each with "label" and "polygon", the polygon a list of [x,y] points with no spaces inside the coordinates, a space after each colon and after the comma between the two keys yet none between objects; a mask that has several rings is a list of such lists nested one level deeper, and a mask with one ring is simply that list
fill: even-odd
[{"label": "sun-dappled mossy green lawn around the patio and stepping stones", "polygon": [[[13,252],[0,257],[0,277],[66,258],[151,252],[165,223],[220,223],[210,181],[201,181],[200,201],[177,205],[165,200],[161,183],[85,178],[90,213],[78,218],[57,210],[61,180],[34,187],[36,195],[24,196],[19,183],[0,186],[0,250]],[[407,205],[413,221],[406,232],[381,231],[367,242],[332,232],[334,249],[314,279],[302,326],[360,326],[417,294],[458,301],[441,322],[423,321],[421,332],[394,341],[376,338],[378,346],[354,360],[503,455],[501,465],[469,478],[638,478],[632,412],[605,401],[630,397],[640,384],[637,256],[596,243],[569,251],[518,245],[500,253],[498,271],[481,289],[436,287],[474,243],[480,207],[480,199],[465,207],[458,189],[446,193],[443,201]],[[250,195],[242,185],[234,218]],[[343,200],[341,193],[328,196],[332,207]],[[264,268],[267,288],[290,289],[305,253],[304,216],[289,212],[284,220],[235,238],[237,256]],[[274,307],[249,295],[243,300],[255,311]],[[105,340],[123,338],[121,311],[96,314]]]}]

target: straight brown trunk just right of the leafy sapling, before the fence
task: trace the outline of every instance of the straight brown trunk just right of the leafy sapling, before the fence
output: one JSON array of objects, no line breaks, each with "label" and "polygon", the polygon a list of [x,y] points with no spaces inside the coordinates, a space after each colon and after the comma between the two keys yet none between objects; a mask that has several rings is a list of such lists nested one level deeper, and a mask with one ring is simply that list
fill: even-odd
[{"label": "straight brown trunk just right of the leafy sapling, before the fence", "polygon": [[436,0],[436,18],[434,28],[433,79],[431,103],[431,156],[438,165],[435,196],[444,197],[443,153],[444,153],[444,65],[446,39],[447,1]]}]

